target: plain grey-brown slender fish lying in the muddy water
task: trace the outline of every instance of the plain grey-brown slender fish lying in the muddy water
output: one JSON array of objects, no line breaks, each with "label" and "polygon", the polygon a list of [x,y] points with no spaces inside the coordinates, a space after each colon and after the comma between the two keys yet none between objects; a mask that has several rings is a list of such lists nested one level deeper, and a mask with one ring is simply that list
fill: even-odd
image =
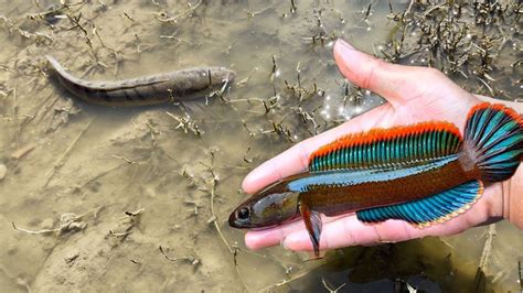
[{"label": "plain grey-brown slender fish lying in the muddy water", "polygon": [[107,106],[149,106],[201,98],[232,83],[235,72],[225,67],[195,67],[118,82],[88,82],[67,73],[46,56],[56,78],[71,94]]}]

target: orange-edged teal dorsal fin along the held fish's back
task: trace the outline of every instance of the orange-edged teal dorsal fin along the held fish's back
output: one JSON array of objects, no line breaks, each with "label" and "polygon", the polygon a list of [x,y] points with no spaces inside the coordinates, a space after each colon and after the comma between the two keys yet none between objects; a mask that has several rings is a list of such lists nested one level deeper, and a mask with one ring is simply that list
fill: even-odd
[{"label": "orange-edged teal dorsal fin along the held fish's back", "polygon": [[429,121],[349,134],[310,155],[309,171],[371,169],[456,154],[461,150],[459,129],[449,122]]}]

